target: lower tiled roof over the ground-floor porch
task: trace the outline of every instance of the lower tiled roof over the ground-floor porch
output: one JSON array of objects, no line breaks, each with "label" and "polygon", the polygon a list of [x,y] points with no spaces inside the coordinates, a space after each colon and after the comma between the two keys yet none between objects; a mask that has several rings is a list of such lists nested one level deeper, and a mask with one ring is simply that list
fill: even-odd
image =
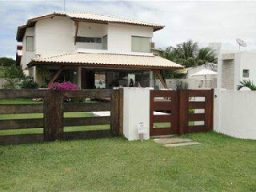
[{"label": "lower tiled roof over the ground-floor porch", "polygon": [[177,70],[183,68],[175,62],[158,56],[142,56],[132,54],[92,54],[74,52],[59,54],[46,58],[34,58],[28,66],[91,66],[98,68],[122,68],[141,70]]}]

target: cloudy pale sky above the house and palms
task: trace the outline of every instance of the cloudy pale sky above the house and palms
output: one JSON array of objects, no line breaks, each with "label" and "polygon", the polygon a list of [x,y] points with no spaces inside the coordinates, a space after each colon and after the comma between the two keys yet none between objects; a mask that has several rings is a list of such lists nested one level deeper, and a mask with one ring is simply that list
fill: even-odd
[{"label": "cloudy pale sky above the house and palms", "polygon": [[[64,0],[0,0],[0,57],[14,58],[17,26],[28,18],[63,10]],[[222,42],[238,50],[236,38],[256,51],[256,2],[66,0],[66,11],[88,11],[165,25],[154,33],[157,48],[192,39],[199,46]]]}]

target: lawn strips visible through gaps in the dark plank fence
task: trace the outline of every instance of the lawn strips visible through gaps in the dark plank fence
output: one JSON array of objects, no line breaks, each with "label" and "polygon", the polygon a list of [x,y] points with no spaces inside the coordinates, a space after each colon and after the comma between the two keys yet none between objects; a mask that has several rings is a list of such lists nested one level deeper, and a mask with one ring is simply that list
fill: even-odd
[{"label": "lawn strips visible through gaps in the dark plank fence", "polygon": [[[0,104],[37,104],[42,102],[34,102],[27,98],[0,99]],[[88,112],[66,112],[64,118],[87,118],[92,117],[92,113]],[[22,119],[22,118],[43,118],[43,114],[0,114],[0,120],[4,119]],[[109,130],[110,125],[99,126],[69,126],[64,127],[64,131],[79,130]],[[21,130],[0,130],[0,135],[6,134],[42,134],[42,128],[21,129]]]}]

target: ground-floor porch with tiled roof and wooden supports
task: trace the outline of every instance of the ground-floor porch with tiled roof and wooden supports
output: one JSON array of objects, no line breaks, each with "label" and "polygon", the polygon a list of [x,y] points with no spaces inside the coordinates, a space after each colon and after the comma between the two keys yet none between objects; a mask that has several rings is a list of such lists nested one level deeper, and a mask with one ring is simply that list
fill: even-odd
[{"label": "ground-floor porch with tiled roof and wooden supports", "polygon": [[[113,87],[150,87],[153,71],[167,88],[162,70],[177,70],[183,66],[158,56],[130,54],[95,54],[74,52],[48,58],[35,58],[30,74],[39,84],[70,81],[82,89]],[[42,77],[40,71],[49,70]]]}]

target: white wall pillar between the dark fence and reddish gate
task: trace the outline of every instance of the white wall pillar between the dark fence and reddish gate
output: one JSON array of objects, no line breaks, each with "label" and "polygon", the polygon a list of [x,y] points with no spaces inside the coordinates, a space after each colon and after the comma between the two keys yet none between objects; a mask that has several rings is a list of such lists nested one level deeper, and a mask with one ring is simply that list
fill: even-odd
[{"label": "white wall pillar between the dark fence and reddish gate", "polygon": [[138,140],[138,123],[144,122],[150,138],[150,88],[123,88],[123,134],[129,141]]}]

